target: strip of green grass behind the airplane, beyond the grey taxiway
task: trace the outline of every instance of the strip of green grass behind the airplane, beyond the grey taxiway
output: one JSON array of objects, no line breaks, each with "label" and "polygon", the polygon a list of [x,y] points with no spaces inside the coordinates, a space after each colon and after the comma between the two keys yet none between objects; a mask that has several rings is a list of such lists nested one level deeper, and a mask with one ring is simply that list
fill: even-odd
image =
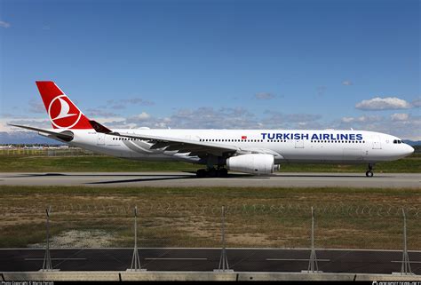
[{"label": "strip of green grass behind the airplane, beyond the grey taxiway", "polygon": [[[0,155],[0,172],[195,171],[199,168],[203,166],[186,162],[139,162],[104,155]],[[365,172],[366,170],[365,164],[285,163],[281,165],[282,172]],[[412,154],[394,162],[379,162],[375,171],[421,173],[421,154]]]}]

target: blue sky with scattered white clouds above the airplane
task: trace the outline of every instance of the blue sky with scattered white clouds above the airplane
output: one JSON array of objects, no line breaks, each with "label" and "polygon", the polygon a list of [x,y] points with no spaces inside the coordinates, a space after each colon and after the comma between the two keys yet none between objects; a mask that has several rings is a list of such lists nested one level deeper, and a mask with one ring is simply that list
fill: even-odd
[{"label": "blue sky with scattered white clouds above the airplane", "polygon": [[53,80],[110,127],[421,139],[417,0],[0,0],[0,131]]}]

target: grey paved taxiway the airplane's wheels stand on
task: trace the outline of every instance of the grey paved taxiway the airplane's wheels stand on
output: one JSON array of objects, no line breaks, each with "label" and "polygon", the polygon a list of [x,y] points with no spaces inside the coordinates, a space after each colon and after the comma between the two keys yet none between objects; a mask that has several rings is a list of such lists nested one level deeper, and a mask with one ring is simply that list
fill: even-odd
[{"label": "grey paved taxiway the airplane's wheels stand on", "polygon": [[230,187],[375,187],[421,188],[421,173],[284,173],[255,177],[230,173],[227,178],[196,178],[190,172],[10,172],[0,173],[0,186],[230,186]]}]

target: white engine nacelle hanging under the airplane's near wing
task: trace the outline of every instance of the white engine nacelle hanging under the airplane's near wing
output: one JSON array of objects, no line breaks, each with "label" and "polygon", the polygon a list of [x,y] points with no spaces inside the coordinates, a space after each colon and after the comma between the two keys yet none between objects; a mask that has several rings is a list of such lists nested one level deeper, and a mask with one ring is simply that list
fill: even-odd
[{"label": "white engine nacelle hanging under the airplane's near wing", "polygon": [[226,160],[228,170],[265,175],[274,173],[274,155],[242,154]]}]

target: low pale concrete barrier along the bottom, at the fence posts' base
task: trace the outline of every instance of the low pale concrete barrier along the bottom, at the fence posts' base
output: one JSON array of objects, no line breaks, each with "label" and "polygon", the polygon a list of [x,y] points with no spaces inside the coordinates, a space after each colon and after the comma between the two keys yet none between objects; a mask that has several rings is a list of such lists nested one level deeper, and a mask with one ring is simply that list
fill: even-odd
[{"label": "low pale concrete barrier along the bottom, at the fence posts' base", "polygon": [[8,272],[4,281],[421,281],[421,275],[361,273]]}]

